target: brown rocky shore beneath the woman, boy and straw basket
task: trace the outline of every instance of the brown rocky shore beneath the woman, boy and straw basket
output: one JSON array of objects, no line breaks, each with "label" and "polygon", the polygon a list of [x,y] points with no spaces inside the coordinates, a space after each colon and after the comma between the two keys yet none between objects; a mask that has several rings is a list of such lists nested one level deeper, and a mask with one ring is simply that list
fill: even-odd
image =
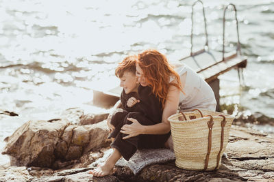
[{"label": "brown rocky shore beneath the woman, boy and straw basket", "polygon": [[11,160],[0,166],[0,181],[274,181],[274,135],[238,125],[232,125],[216,172],[183,170],[171,161],[138,175],[117,166],[113,175],[92,177],[88,170],[110,149],[106,117],[71,108],[60,118],[27,121],[5,138],[3,154]]}]

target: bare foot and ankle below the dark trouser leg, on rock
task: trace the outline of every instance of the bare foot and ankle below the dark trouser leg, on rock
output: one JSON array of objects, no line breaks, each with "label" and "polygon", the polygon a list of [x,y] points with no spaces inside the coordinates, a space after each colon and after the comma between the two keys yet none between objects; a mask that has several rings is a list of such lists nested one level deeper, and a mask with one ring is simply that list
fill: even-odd
[{"label": "bare foot and ankle below the dark trouser leg, on rock", "polygon": [[94,170],[90,170],[90,174],[95,177],[104,177],[106,175],[112,175],[113,168],[116,162],[121,158],[121,153],[119,150],[114,149],[113,153],[108,157],[105,162],[98,164],[97,168]]}]

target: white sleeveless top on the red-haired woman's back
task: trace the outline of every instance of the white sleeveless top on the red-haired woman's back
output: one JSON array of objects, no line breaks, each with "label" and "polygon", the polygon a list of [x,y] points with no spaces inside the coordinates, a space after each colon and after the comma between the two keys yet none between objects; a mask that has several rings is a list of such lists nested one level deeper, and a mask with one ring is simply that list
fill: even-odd
[{"label": "white sleeveless top on the red-haired woman's back", "polygon": [[[187,65],[179,65],[174,69],[179,74],[181,80],[186,73],[186,82],[183,87],[184,93],[179,95],[179,103],[183,110],[193,108],[216,110],[216,99],[214,92],[208,83]],[[170,77],[170,82],[175,79]]]}]

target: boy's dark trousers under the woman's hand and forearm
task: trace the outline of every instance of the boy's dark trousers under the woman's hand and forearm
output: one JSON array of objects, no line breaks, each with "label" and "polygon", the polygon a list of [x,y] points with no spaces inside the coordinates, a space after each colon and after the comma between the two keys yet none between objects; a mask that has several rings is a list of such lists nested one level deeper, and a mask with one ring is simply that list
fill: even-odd
[{"label": "boy's dark trousers under the woman's hand and forearm", "polygon": [[127,136],[127,134],[122,134],[120,130],[123,125],[132,123],[132,121],[127,120],[128,117],[136,119],[141,125],[155,125],[161,121],[151,121],[147,119],[142,112],[127,112],[126,110],[116,112],[113,117],[115,121],[110,123],[114,126],[115,124],[117,125],[115,126],[114,132],[112,132],[113,135],[110,134],[110,137],[115,138],[110,146],[118,149],[125,160],[129,160],[130,157],[136,153],[137,149],[163,148],[164,142],[166,142],[171,134],[171,132],[162,135],[141,134],[124,140],[123,137]]}]

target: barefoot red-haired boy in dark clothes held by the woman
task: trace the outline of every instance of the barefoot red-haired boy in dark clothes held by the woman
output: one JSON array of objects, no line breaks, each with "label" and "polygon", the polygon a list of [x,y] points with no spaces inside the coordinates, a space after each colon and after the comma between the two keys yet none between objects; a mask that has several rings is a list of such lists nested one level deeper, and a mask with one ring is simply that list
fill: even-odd
[{"label": "barefoot red-haired boy in dark clothes held by the woman", "polygon": [[[96,177],[110,175],[113,172],[114,164],[122,156],[125,160],[129,160],[137,149],[153,149],[164,147],[164,140],[169,138],[169,134],[162,135],[143,135],[125,138],[126,134],[120,132],[123,125],[130,125],[132,121],[127,118],[137,119],[141,125],[154,125],[162,121],[162,103],[155,97],[151,91],[151,87],[142,87],[137,82],[136,73],[136,56],[129,56],[123,59],[122,63],[115,70],[115,75],[121,80],[120,86],[123,87],[120,102],[116,104],[113,115],[108,117],[108,123],[113,139],[110,145],[114,148],[114,152],[108,159],[99,164],[95,170],[89,173]],[[123,109],[118,108],[121,106]],[[159,140],[160,139],[160,140]],[[117,153],[119,151],[119,153]]]}]

